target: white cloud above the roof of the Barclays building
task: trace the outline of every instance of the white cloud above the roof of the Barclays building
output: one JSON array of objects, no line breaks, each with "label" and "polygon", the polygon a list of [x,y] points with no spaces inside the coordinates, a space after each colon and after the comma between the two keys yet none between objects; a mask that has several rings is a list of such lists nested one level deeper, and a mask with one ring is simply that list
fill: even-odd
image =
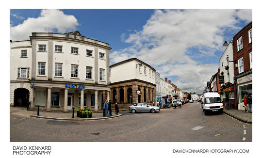
[{"label": "white cloud above the roof of the Barclays building", "polygon": [[10,40],[29,40],[32,32],[75,31],[78,26],[75,16],[65,15],[58,9],[43,9],[37,18],[28,17],[22,24],[10,26]]}]

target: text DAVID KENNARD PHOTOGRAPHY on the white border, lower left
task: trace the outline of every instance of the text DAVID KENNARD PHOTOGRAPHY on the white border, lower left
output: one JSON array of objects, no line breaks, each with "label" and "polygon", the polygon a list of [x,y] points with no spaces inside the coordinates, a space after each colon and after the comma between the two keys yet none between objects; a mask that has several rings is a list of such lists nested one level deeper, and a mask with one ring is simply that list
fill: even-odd
[{"label": "text DAVID KENNARD PHOTOGRAPHY on the white border, lower left", "polygon": [[50,155],[51,146],[13,146],[13,155]]}]

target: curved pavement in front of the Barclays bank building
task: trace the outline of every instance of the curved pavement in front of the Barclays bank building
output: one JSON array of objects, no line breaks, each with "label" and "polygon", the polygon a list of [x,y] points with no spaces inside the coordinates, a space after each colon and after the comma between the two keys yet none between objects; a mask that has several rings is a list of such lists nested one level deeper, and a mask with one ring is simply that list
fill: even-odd
[{"label": "curved pavement in front of the Barclays bank building", "polygon": [[[27,111],[27,107],[12,107],[10,106],[10,113],[26,116],[26,117],[38,117],[38,118],[45,118],[45,119],[53,119],[53,120],[67,120],[67,121],[85,121],[85,120],[100,120],[100,119],[107,119],[107,118],[114,118],[122,116],[122,114],[118,113],[115,114],[115,109],[112,109],[113,116],[106,116],[103,117],[103,110],[93,111],[92,118],[80,118],[77,117],[77,112],[75,109],[74,118],[73,112],[63,112],[63,111],[46,111],[46,110],[39,110],[39,115],[37,115],[37,109],[34,111]],[[120,111],[121,112],[121,111]]]}]

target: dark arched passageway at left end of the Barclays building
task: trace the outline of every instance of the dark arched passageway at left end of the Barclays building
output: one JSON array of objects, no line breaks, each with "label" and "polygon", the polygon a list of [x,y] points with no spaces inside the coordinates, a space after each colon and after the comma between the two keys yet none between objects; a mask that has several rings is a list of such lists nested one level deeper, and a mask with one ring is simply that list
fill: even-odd
[{"label": "dark arched passageway at left end of the Barclays building", "polygon": [[17,88],[14,93],[14,106],[27,107],[29,104],[29,90]]}]

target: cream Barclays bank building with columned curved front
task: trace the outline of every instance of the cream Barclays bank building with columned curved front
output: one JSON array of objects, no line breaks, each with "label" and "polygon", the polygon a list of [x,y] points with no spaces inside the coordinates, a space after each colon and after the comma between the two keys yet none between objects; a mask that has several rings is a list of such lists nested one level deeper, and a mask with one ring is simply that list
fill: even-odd
[{"label": "cream Barclays bank building with columned curved front", "polygon": [[102,92],[109,98],[110,49],[78,31],[37,32],[29,41],[10,41],[10,106],[98,111]]}]

